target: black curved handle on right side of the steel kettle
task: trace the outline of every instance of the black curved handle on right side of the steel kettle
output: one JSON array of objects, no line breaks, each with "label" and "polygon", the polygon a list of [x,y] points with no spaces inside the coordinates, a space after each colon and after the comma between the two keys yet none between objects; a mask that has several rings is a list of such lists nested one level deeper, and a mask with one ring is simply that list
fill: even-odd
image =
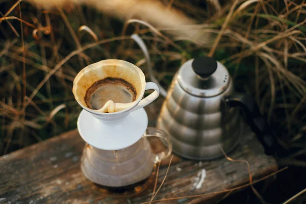
[{"label": "black curved handle on right side of the steel kettle", "polygon": [[[276,135],[270,125],[261,115],[259,107],[253,97],[249,94],[234,93],[225,99],[228,109],[240,107],[246,117],[246,122],[256,133],[258,140],[262,143],[266,155],[274,155],[283,147],[278,143]],[[284,152],[284,150],[283,150]]]}]

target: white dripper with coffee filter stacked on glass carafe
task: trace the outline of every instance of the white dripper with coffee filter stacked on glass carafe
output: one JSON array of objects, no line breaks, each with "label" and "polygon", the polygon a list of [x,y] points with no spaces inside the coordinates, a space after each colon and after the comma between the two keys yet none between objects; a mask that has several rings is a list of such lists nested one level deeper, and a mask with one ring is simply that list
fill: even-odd
[{"label": "white dripper with coffee filter stacked on glass carafe", "polygon": [[[142,98],[149,89],[154,92]],[[143,109],[159,96],[158,86],[146,83],[143,72],[129,62],[103,60],[82,69],[72,91],[83,108],[78,118],[78,131],[87,143],[83,174],[109,195],[144,190],[155,174],[155,164],[172,150],[167,133],[147,127]],[[148,137],[159,138],[166,149],[155,154]]]}]

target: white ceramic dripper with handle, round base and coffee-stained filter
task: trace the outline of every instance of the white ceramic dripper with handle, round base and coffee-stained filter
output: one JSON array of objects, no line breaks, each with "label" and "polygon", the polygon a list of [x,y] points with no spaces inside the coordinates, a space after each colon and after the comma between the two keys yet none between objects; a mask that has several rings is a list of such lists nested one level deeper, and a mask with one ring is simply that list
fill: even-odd
[{"label": "white ceramic dripper with handle, round base and coffee-stained filter", "polygon": [[[103,108],[111,113],[89,109],[85,103],[88,88],[106,78],[121,78],[136,89],[136,99],[129,104],[111,103]],[[144,91],[155,90],[145,98]],[[141,69],[123,60],[102,60],[82,69],[73,81],[72,92],[84,109],[78,119],[78,130],[85,142],[104,150],[118,150],[137,142],[148,124],[143,107],[159,96],[155,83],[145,82]]]}]

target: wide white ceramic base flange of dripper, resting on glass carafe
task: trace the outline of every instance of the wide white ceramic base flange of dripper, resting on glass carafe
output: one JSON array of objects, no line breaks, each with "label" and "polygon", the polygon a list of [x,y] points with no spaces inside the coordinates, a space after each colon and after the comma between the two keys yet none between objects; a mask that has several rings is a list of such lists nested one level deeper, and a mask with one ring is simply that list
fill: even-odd
[{"label": "wide white ceramic base flange of dripper, resting on glass carafe", "polygon": [[143,108],[132,111],[120,123],[105,124],[82,110],[78,118],[78,131],[82,139],[98,149],[118,150],[129,147],[141,139],[148,126]]}]

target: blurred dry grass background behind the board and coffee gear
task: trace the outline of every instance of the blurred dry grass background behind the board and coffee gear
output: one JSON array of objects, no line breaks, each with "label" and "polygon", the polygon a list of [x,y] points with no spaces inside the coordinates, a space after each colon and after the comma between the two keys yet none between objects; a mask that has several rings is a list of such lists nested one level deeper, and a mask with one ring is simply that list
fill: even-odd
[{"label": "blurred dry grass background behind the board and coffee gear", "polygon": [[86,65],[122,59],[147,74],[129,37],[138,33],[165,87],[191,58],[223,63],[290,150],[279,165],[298,167],[305,179],[304,0],[0,0],[0,11],[0,155],[77,127],[72,82]]}]

